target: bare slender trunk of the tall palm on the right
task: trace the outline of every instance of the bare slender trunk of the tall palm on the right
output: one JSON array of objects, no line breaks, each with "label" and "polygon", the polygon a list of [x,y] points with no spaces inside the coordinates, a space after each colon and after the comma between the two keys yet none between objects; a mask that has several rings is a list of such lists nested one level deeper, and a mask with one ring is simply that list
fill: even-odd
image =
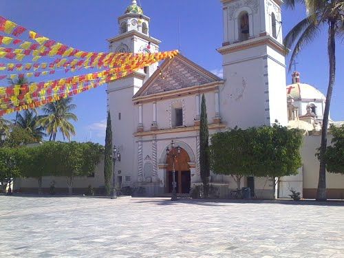
[{"label": "bare slender trunk of the tall palm on the right", "polygon": [[316,193],[317,201],[326,201],[326,160],[325,153],[327,148],[327,127],[328,116],[330,114],[330,103],[332,98],[332,90],[336,76],[336,23],[330,21],[329,35],[328,35],[328,57],[330,61],[330,78],[327,87],[327,96],[325,102],[325,111],[323,114],[323,128],[321,131],[321,147],[320,147],[320,168],[319,168],[319,183],[318,191]]}]

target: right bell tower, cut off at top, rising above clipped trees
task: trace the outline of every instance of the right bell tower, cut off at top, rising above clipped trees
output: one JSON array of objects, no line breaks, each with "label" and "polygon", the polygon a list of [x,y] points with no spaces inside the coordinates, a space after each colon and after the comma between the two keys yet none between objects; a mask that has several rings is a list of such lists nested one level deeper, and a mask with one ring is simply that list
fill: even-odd
[{"label": "right bell tower, cut off at top, rising above clipped trees", "polygon": [[229,127],[287,125],[281,0],[221,0],[224,79],[221,115]]}]

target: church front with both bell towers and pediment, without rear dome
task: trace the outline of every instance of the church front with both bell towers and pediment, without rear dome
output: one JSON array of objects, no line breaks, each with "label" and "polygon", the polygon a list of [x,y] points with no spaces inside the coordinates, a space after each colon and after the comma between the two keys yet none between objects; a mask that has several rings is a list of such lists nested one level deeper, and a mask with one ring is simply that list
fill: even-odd
[{"label": "church front with both bell towers and pediment, without rear dome", "polygon": [[[200,178],[200,104],[206,98],[210,136],[235,126],[247,128],[288,124],[286,66],[281,32],[281,1],[223,0],[224,78],[179,55],[162,65],[144,67],[109,83],[108,111],[114,144],[120,152],[116,182],[142,186],[150,195],[171,192],[173,160],[166,155],[171,141],[182,151],[175,162],[177,192],[187,194]],[[118,19],[120,34],[109,39],[114,52],[156,52],[149,17],[136,1]],[[250,71],[246,73],[245,71]],[[238,112],[238,110],[241,110]],[[244,118],[244,119],[243,119]],[[223,195],[236,184],[229,176],[211,175]],[[273,197],[273,182],[247,178],[260,197]]]}]

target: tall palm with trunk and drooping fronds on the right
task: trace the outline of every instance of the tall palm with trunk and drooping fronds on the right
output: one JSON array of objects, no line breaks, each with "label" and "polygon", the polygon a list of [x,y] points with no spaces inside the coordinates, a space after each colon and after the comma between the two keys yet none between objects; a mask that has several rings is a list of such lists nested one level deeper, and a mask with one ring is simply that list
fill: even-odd
[{"label": "tall palm with trunk and drooping fronds on the right", "polygon": [[313,39],[321,32],[321,29],[328,28],[327,31],[327,52],[330,63],[330,78],[327,87],[327,96],[325,102],[325,111],[323,114],[323,125],[321,132],[321,147],[319,151],[320,168],[319,168],[319,183],[318,191],[316,193],[316,200],[325,201],[326,198],[326,181],[325,181],[325,166],[324,159],[327,147],[327,127],[328,116],[330,112],[330,103],[332,97],[332,90],[334,86],[334,79],[336,76],[336,38],[343,37],[344,32],[344,1],[343,0],[285,0],[286,5],[291,8],[295,7],[295,3],[301,3],[307,9],[307,17],[297,23],[297,25],[290,30],[284,39],[283,43],[287,52],[294,45],[292,56],[290,58],[290,65],[294,62],[297,54],[301,52],[303,47],[308,43],[312,43]]}]

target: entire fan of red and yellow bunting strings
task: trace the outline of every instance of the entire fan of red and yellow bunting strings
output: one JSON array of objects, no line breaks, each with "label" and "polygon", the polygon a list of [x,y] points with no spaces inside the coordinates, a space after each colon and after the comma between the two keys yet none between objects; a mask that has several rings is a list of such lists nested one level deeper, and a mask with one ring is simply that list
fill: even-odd
[{"label": "entire fan of red and yellow bunting strings", "polygon": [[[0,58],[20,62],[0,63],[0,72],[21,72],[20,74],[3,74],[0,75],[0,79],[10,78],[16,81],[25,76],[30,78],[52,75],[58,70],[74,72],[82,68],[103,69],[100,72],[68,78],[0,87],[0,116],[14,111],[41,107],[61,98],[89,91],[128,76],[138,69],[178,55],[178,50],[153,54],[84,52],[41,36],[3,17],[0,17],[0,32],[9,35],[0,36],[0,45],[6,45],[6,47],[0,47]],[[28,39],[36,43],[14,38],[22,36],[24,32],[28,32]],[[16,48],[7,47],[8,45],[14,45]],[[42,57],[54,58],[54,61],[21,63],[23,58],[29,56],[34,62]]]}]

